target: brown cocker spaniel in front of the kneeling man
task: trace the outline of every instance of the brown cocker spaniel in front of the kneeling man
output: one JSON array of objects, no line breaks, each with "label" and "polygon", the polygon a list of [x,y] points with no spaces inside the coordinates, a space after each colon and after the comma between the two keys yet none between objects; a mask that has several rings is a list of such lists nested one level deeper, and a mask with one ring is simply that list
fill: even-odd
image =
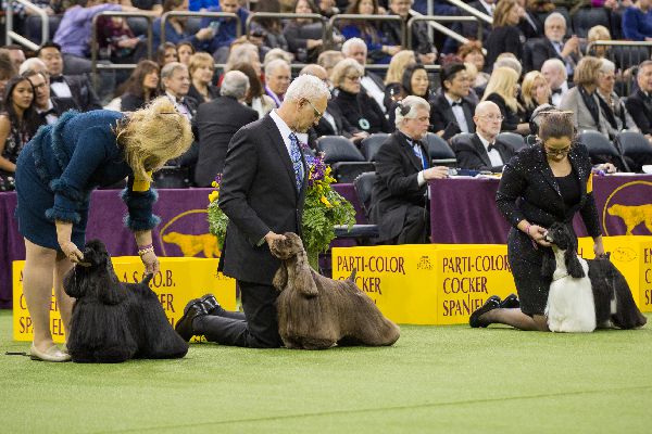
[{"label": "brown cocker spaniel in front of the kneeling man", "polygon": [[347,280],[325,278],[310,267],[301,239],[291,232],[285,237],[273,242],[271,251],[281,260],[274,286],[280,292],[278,332],[287,348],[397,342],[400,329],[355,285],[355,271]]}]

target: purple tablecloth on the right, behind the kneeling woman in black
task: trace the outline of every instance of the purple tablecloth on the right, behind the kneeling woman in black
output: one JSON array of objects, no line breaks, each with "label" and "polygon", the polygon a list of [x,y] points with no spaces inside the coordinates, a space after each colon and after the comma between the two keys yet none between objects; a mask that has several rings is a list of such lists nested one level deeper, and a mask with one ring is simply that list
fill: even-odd
[{"label": "purple tablecloth on the right, behind the kneeling woman in black", "polygon": [[[468,178],[430,181],[432,242],[442,244],[506,243],[509,225],[496,207],[498,183],[498,179]],[[636,218],[632,220],[627,216],[627,209],[631,209],[630,207],[652,203],[652,176],[594,177],[593,195],[604,235],[627,233],[625,219],[631,226],[630,233],[652,234],[642,219],[637,224]],[[616,214],[625,215],[625,219]],[[587,235],[579,215],[576,216],[573,224],[578,237]]]}]

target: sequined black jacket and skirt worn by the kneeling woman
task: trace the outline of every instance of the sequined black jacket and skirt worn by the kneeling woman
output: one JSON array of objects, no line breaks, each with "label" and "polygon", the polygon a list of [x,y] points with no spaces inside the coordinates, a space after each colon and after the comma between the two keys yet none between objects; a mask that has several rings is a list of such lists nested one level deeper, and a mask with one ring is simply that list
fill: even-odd
[{"label": "sequined black jacket and skirt worn by the kneeling woman", "polygon": [[[588,233],[601,234],[600,220],[591,183],[591,161],[587,148],[574,143],[568,159],[573,166],[577,194],[564,194],[554,178],[541,144],[524,149],[505,165],[496,203],[512,229],[507,235],[507,256],[521,299],[521,310],[527,315],[543,315],[550,281],[541,277],[541,263],[547,248],[535,246],[532,240],[516,225],[526,219],[543,228],[559,221],[573,227],[573,217],[579,210]],[[561,179],[561,178],[560,178]],[[566,182],[568,180],[566,179]],[[565,203],[575,195],[574,204]],[[579,200],[577,200],[579,197]]]}]

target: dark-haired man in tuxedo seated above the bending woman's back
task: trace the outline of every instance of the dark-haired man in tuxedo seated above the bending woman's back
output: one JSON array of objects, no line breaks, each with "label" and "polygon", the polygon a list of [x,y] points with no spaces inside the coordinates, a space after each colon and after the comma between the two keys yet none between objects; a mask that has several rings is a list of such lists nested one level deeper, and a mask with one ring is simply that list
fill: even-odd
[{"label": "dark-haired man in tuxedo seated above the bending woman's back", "polygon": [[63,58],[58,43],[43,43],[38,50],[38,59],[48,67],[51,98],[62,110],[75,108],[79,112],[88,112],[102,108],[100,100],[86,76],[62,75]]}]

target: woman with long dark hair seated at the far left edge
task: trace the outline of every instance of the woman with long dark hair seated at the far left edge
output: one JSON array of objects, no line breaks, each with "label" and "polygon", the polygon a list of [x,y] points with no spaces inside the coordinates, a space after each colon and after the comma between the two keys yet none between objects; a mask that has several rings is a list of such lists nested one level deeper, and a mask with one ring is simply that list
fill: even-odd
[{"label": "woman with long dark hair seated at the far left edge", "polygon": [[21,150],[40,125],[34,107],[32,82],[16,76],[4,90],[4,112],[0,114],[0,191],[14,190],[16,161]]}]

